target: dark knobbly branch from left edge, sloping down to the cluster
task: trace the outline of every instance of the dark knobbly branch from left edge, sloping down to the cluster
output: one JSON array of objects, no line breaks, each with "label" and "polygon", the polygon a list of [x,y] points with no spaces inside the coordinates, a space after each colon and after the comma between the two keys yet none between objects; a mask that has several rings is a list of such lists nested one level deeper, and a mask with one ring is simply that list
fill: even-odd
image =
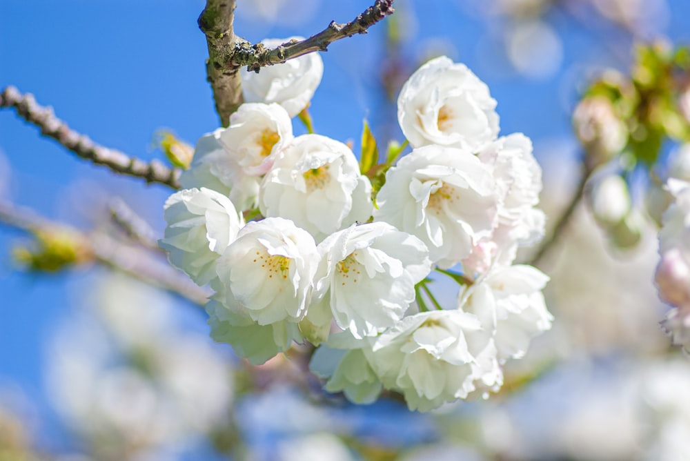
[{"label": "dark knobbly branch from left edge, sloping down to the cluster", "polygon": [[41,135],[52,137],[83,159],[107,166],[116,173],[141,177],[149,183],[157,182],[179,189],[179,170],[170,169],[158,160],[146,163],[119,150],[96,144],[55,117],[52,108],[40,106],[33,95],[23,95],[14,86],[8,86],[0,93],[0,108],[3,107],[14,108],[20,117],[41,128]]}]

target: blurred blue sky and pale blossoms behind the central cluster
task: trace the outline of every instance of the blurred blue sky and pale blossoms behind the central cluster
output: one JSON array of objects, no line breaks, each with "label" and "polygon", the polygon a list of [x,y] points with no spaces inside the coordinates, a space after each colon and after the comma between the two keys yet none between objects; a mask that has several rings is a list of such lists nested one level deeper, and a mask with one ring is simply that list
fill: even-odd
[{"label": "blurred blue sky and pale blossoms behind the central cluster", "polygon": [[[219,124],[196,24],[204,3],[0,0],[0,88],[32,92],[104,146],[165,161],[161,130],[194,144]],[[259,41],[313,35],[370,1],[237,4],[235,32]],[[489,85],[502,135],[533,139],[547,226],[580,190],[582,158],[593,151],[573,131],[582,96],[602,75],[606,88],[623,88],[611,82],[639,68],[635,43],[655,43],[654,56],[690,43],[687,0],[397,0],[395,8],[368,35],[322,54],[310,108],[317,133],[351,140],[357,153],[367,119],[381,144],[402,141],[397,91],[426,59],[448,55]],[[680,97],[676,112],[686,108],[687,118],[689,106]],[[601,121],[606,108],[595,113],[606,130],[620,124],[618,115]],[[295,130],[304,133],[296,120]],[[655,220],[667,199],[653,195],[650,177],[662,182],[682,152],[682,137],[664,136],[644,170],[653,174],[625,175],[622,236],[592,213],[602,206],[588,193],[538,260],[551,276],[554,326],[507,364],[504,389],[427,414],[397,400],[353,406],[323,395],[297,359],[251,368],[208,338],[199,306],[103,266],[31,271],[26,255],[40,238],[0,225],[0,460],[690,459],[690,362],[659,326],[667,307],[653,285]],[[0,110],[4,203],[125,245],[112,208],[143,217],[155,239],[170,193],[77,159]]]}]

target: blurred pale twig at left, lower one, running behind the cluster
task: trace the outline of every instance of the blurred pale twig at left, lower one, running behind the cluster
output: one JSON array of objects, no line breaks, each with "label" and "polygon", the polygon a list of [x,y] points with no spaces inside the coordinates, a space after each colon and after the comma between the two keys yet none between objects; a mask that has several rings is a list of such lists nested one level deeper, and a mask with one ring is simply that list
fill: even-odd
[{"label": "blurred pale twig at left, lower one, running behind the cluster", "polygon": [[190,279],[170,267],[168,264],[152,257],[144,256],[140,248],[132,248],[117,242],[103,233],[83,233],[81,230],[52,222],[34,211],[0,201],[0,222],[29,233],[56,233],[66,231],[75,237],[75,241],[84,248],[83,254],[92,255],[92,259],[149,284],[160,286],[172,293],[190,300],[199,306],[206,304],[210,292],[201,288]]}]

